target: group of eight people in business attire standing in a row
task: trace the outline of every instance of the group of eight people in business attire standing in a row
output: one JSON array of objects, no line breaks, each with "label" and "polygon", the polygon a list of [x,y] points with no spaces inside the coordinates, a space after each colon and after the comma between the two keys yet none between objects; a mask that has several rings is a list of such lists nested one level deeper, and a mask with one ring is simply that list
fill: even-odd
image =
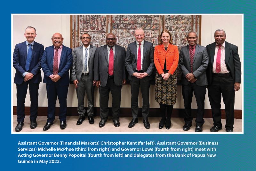
[{"label": "group of eight people in business attire standing in a row", "polygon": [[[241,63],[237,46],[225,41],[226,33],[218,29],[214,33],[215,42],[206,47],[196,43],[197,33],[187,34],[188,45],[181,48],[172,44],[171,33],[168,30],[160,34],[159,45],[144,40],[144,31],[136,28],[136,41],[130,43],[125,51],[124,47],[116,45],[113,33],[106,35],[106,45],[96,48],[90,45],[91,36],[84,33],[81,36],[82,46],[72,50],[62,45],[63,37],[60,33],[52,36],[53,46],[47,47],[36,43],[36,29],[28,26],[25,30],[26,41],[15,46],[13,66],[16,69],[14,83],[17,86],[17,126],[15,131],[22,130],[25,118],[25,97],[29,87],[30,128],[37,126],[38,89],[41,82],[40,68],[44,72],[46,83],[48,112],[47,122],[43,130],[50,129],[55,119],[55,104],[57,97],[60,102],[60,128],[65,129],[67,113],[67,94],[69,85],[69,69],[72,68],[71,79],[76,88],[79,119],[81,125],[88,115],[90,124],[94,123],[94,87],[100,93],[100,123],[104,127],[109,115],[108,98],[112,94],[112,120],[114,126],[119,127],[122,84],[126,83],[126,71],[131,85],[132,120],[128,127],[138,123],[139,88],[142,94],[142,118],[144,127],[150,128],[149,116],[149,88],[155,77],[156,101],[160,106],[161,120],[159,129],[165,125],[171,127],[171,114],[176,103],[178,65],[182,71],[182,95],[185,105],[183,130],[192,126],[191,102],[193,92],[196,97],[197,115],[196,132],[203,131],[204,98],[208,86],[208,96],[212,108],[213,127],[211,132],[222,129],[220,102],[221,94],[225,103],[226,130],[233,132],[235,91],[240,88]],[[154,69],[156,68],[156,74]],[[84,108],[85,93],[88,98],[87,111]],[[167,113],[167,115],[166,115]],[[166,117],[167,116],[167,117]]]}]

